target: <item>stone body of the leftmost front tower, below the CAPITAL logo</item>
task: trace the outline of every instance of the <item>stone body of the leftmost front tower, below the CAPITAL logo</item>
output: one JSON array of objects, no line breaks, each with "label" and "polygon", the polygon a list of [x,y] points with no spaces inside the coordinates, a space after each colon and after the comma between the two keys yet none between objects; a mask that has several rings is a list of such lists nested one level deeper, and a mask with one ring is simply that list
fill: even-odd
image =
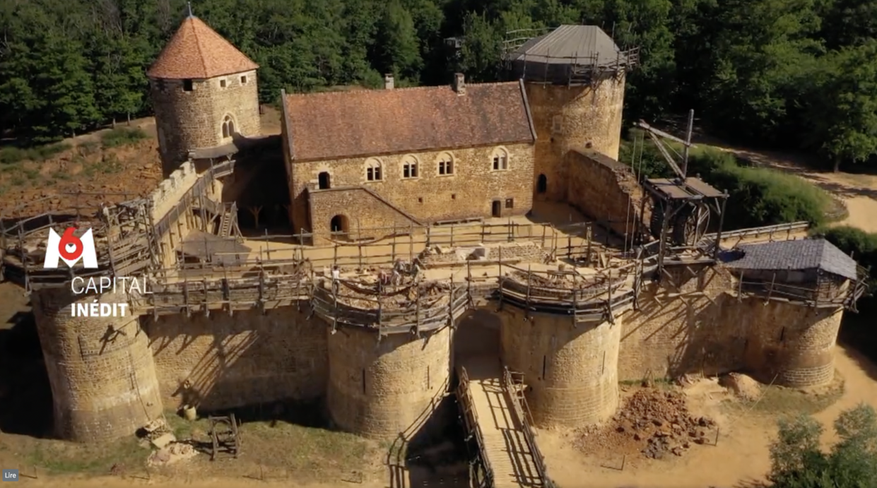
[{"label": "stone body of the leftmost front tower, below the CAPITAL logo", "polygon": [[160,417],[158,380],[137,316],[73,316],[76,304],[119,303],[124,294],[73,295],[69,286],[32,293],[52,386],[55,434],[75,442],[132,435]]}]

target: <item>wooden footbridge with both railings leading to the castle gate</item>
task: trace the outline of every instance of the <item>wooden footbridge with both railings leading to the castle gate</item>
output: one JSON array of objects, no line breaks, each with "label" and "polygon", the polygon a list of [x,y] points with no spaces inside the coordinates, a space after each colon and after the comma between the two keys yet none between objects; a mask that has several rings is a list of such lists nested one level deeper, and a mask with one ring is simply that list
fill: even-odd
[{"label": "wooden footbridge with both railings leading to the castle gate", "polygon": [[473,486],[552,486],[536,445],[520,386],[496,357],[470,357],[458,365],[457,398],[481,464]]}]

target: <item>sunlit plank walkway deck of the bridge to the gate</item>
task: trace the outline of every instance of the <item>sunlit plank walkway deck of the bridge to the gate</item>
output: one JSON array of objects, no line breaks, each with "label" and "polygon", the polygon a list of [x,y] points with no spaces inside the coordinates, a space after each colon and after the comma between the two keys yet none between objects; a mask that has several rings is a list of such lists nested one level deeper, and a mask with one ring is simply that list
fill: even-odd
[{"label": "sunlit plank walkway deck of the bridge to the gate", "polygon": [[496,488],[543,486],[521,419],[503,390],[503,368],[496,357],[464,359],[469,391],[484,439],[484,454],[493,470]]}]

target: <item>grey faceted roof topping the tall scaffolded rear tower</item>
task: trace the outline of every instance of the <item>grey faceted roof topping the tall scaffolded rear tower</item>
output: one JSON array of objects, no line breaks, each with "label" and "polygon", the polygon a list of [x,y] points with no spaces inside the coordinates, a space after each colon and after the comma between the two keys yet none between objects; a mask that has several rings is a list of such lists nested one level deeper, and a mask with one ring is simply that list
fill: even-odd
[{"label": "grey faceted roof topping the tall scaffolded rear tower", "polygon": [[597,66],[614,63],[624,54],[609,34],[596,25],[560,25],[552,32],[533,38],[510,54],[510,60],[526,60],[546,64],[567,64],[578,60],[586,64],[596,56]]}]

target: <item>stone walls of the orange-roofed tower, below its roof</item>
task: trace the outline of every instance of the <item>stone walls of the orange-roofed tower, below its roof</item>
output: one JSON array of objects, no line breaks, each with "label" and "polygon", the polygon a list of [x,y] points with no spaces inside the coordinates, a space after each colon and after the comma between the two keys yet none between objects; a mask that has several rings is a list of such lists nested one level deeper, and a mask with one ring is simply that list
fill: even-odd
[{"label": "stone walls of the orange-roofed tower, below its roof", "polygon": [[[241,82],[241,76],[246,76],[246,83]],[[225,80],[225,88],[220,86],[221,80]],[[155,110],[165,176],[188,159],[189,151],[231,142],[232,139],[222,137],[226,115],[232,117],[240,135],[261,133],[254,70],[193,80],[192,91],[183,90],[182,80],[151,80],[150,99]]]}]

